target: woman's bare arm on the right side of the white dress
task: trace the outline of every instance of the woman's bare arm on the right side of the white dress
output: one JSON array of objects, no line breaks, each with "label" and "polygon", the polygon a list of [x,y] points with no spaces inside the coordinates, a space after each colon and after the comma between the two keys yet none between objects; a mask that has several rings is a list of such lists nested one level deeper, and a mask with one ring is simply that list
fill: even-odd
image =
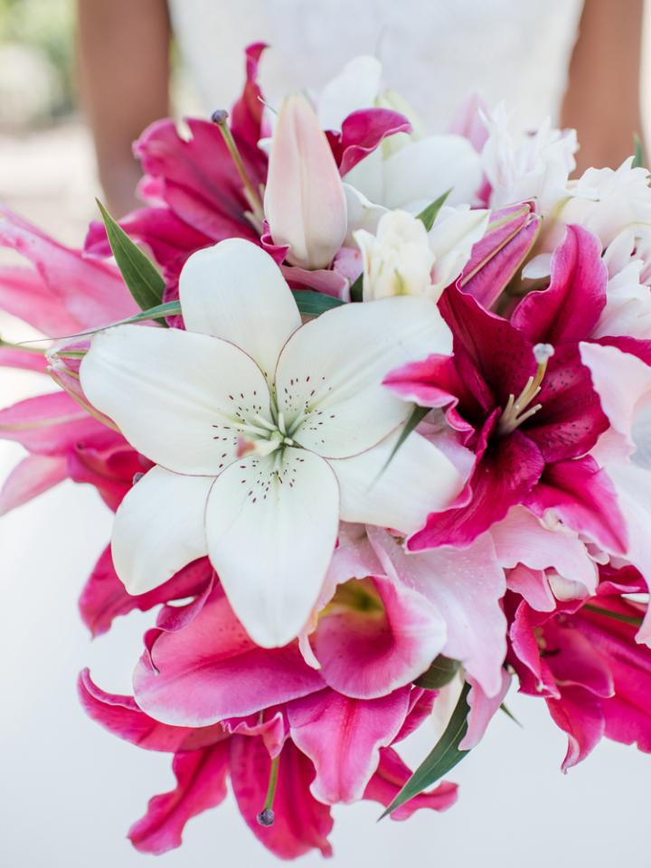
[{"label": "woman's bare arm on the right side of the white dress", "polygon": [[579,133],[579,170],[619,165],[642,137],[643,12],[644,0],[585,0],[562,109],[562,126]]}]

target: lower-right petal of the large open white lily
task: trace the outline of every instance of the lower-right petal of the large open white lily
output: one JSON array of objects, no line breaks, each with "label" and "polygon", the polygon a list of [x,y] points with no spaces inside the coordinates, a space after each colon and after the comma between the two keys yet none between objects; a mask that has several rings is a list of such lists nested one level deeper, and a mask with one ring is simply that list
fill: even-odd
[{"label": "lower-right petal of the large open white lily", "polygon": [[330,462],[339,480],[342,521],[415,533],[429,513],[445,509],[458,495],[463,476],[415,431],[385,467],[399,437],[392,434],[361,455]]}]

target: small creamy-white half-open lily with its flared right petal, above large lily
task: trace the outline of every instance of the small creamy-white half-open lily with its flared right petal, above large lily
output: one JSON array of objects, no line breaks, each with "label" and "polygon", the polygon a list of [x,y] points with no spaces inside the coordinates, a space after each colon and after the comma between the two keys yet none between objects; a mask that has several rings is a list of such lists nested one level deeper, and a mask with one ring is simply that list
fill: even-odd
[{"label": "small creamy-white half-open lily with its flared right petal, above large lily", "polygon": [[386,212],[377,231],[354,232],[363,255],[363,299],[427,296],[437,301],[458,278],[490,212],[441,208],[429,232],[408,212]]}]

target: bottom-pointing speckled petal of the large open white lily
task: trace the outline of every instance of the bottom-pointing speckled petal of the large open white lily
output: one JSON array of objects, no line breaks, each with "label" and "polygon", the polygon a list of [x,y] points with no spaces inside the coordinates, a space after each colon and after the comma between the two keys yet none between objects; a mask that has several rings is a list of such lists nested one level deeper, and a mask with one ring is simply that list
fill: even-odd
[{"label": "bottom-pointing speckled petal of the large open white lily", "polygon": [[305,626],[335,549],[338,514],[335,474],[303,449],[244,458],[215,480],[208,552],[259,646],[286,645]]}]

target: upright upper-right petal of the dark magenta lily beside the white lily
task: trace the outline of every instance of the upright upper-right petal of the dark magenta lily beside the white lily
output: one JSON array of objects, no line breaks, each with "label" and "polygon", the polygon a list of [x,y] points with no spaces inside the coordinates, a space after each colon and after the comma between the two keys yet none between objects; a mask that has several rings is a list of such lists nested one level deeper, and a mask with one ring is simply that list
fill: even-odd
[{"label": "upright upper-right petal of the dark magenta lily beside the white lily", "polygon": [[568,226],[552,255],[549,287],[528,293],[511,321],[533,344],[583,340],[606,307],[607,282],[599,239],[581,226]]}]

